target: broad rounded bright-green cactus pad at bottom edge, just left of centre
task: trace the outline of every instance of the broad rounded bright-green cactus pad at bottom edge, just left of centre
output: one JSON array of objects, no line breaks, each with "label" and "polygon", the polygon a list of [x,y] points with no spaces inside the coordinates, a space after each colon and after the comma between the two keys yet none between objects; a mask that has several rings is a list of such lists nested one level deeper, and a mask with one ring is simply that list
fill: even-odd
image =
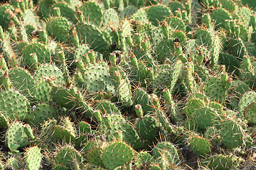
[{"label": "broad rounded bright-green cactus pad at bottom edge, just left of centre", "polygon": [[129,164],[134,156],[132,147],[122,143],[113,142],[105,147],[102,153],[102,162],[107,169],[115,169],[118,166]]}]

